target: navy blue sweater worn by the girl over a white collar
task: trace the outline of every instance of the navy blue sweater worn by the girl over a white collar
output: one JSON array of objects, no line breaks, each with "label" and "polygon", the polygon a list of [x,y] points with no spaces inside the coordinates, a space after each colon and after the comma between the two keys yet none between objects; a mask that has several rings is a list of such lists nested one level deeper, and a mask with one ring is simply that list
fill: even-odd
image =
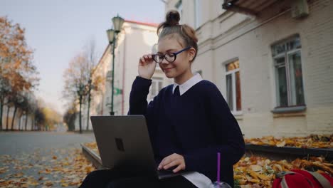
[{"label": "navy blue sweater worn by the girl over a white collar", "polygon": [[239,125],[215,84],[201,80],[183,95],[169,85],[152,102],[152,80],[137,76],[129,96],[129,115],[144,115],[157,161],[173,153],[183,155],[186,170],[216,181],[217,152],[221,153],[221,181],[233,187],[233,164],[245,152]]}]

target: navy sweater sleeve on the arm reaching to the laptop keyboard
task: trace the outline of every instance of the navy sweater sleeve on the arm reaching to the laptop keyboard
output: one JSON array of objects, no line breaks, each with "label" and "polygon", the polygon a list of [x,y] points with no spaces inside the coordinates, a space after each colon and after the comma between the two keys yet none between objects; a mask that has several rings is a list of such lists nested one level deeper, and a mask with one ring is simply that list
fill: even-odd
[{"label": "navy sweater sleeve on the arm reaching to the laptop keyboard", "polygon": [[[230,176],[228,172],[223,172],[223,170],[232,170],[233,164],[236,164],[244,155],[243,135],[238,122],[231,114],[226,100],[224,100],[216,85],[209,85],[206,93],[208,93],[206,99],[208,104],[206,106],[216,143],[184,155],[186,169],[199,172],[209,172],[211,169],[216,169],[217,152],[220,152],[221,177],[224,174]],[[214,172],[216,171],[214,170]],[[227,179],[231,181],[232,177],[227,177]]]}]

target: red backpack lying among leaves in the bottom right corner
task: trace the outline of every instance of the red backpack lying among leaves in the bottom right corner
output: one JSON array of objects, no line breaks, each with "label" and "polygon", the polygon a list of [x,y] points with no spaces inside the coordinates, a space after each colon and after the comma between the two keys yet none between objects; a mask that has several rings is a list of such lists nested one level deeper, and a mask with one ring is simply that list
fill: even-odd
[{"label": "red backpack lying among leaves in the bottom right corner", "polygon": [[292,169],[277,173],[273,188],[333,188],[333,178],[329,174]]}]

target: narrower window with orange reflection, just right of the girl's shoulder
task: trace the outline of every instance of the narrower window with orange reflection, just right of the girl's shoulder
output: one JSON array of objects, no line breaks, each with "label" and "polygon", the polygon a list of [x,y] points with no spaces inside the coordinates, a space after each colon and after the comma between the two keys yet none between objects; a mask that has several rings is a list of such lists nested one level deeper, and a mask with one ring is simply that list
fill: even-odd
[{"label": "narrower window with orange reflection, just right of the girl's shoulder", "polygon": [[226,65],[226,101],[233,114],[241,113],[239,61]]}]

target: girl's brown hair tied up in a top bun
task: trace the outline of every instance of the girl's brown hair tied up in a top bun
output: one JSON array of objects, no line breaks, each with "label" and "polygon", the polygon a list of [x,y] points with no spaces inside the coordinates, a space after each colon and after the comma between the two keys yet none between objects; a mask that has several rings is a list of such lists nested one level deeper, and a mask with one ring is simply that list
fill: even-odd
[{"label": "girl's brown hair tied up in a top bun", "polygon": [[[160,23],[157,28],[157,35],[159,35],[159,40],[164,38],[164,36],[174,35],[176,38],[181,39],[182,43],[185,45],[181,45],[184,48],[187,46],[191,46],[196,49],[196,54],[198,53],[198,38],[196,38],[196,31],[191,26],[186,24],[179,25],[179,12],[178,11],[168,11],[165,16],[165,21]],[[159,31],[162,29],[161,33]],[[181,43],[181,42],[180,42]],[[181,43],[181,44],[182,44]],[[196,58],[196,54],[191,62]]]}]

